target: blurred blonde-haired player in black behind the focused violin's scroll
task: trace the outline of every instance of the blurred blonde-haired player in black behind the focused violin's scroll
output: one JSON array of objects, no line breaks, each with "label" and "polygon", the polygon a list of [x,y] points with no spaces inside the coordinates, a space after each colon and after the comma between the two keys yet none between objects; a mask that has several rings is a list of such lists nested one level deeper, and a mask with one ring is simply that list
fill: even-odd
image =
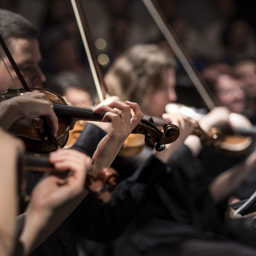
[{"label": "blurred blonde-haired player in black behind the focused violin's scroll", "polygon": [[[177,99],[175,64],[157,46],[144,44],[128,49],[112,64],[105,81],[111,95],[139,102],[145,114],[176,122],[172,115],[164,114],[165,105]],[[201,127],[207,132],[211,125],[221,122],[230,125],[229,113],[225,108],[216,108],[200,121]],[[182,122],[179,123],[180,127]],[[180,136],[186,138],[188,133],[183,134],[181,129]],[[220,238],[218,233],[221,233],[216,205],[252,172],[255,167],[255,161],[252,160],[256,153],[240,166],[224,172],[207,188],[204,170],[197,159],[202,150],[199,138],[189,136],[184,143],[173,156],[168,155],[168,151],[155,154],[172,167],[172,172],[156,186],[149,202],[126,234],[117,241],[116,255],[121,252],[122,255],[204,255],[204,250],[207,250],[207,255],[221,255],[225,251],[237,255],[244,251],[248,255],[255,255],[255,251],[247,250],[234,241],[214,239]],[[127,164],[124,160],[121,162],[123,170]],[[232,186],[229,182],[231,177],[236,180]],[[198,230],[204,231],[201,233]],[[207,236],[205,232],[212,235]]]}]

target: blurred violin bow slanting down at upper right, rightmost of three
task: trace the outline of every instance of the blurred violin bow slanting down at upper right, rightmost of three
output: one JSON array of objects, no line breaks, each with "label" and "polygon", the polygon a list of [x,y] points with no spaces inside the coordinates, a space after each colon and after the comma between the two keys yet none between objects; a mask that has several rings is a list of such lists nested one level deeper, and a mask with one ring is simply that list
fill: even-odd
[{"label": "blurred violin bow slanting down at upper right, rightmost of three", "polygon": [[166,38],[166,41],[172,48],[177,59],[180,61],[183,68],[186,70],[186,73],[188,74],[192,83],[195,85],[196,89],[198,90],[198,93],[201,95],[205,104],[207,105],[209,110],[212,110],[213,108],[215,108],[215,104],[212,101],[212,98],[209,96],[209,92],[210,92],[209,88],[208,88],[208,92],[206,90],[207,84],[204,82],[203,78],[200,76],[199,72],[197,71],[192,60],[189,58],[189,55],[186,53],[185,49],[182,47],[181,44],[179,45],[177,43],[178,42],[177,36],[175,35],[175,32],[171,28],[170,24],[167,22],[166,17],[164,16],[160,7],[157,5],[155,0],[142,0],[142,1],[145,4],[146,8],[148,9],[148,12],[151,14],[152,18],[154,19],[155,23],[157,24],[158,28],[162,32],[163,36]]}]

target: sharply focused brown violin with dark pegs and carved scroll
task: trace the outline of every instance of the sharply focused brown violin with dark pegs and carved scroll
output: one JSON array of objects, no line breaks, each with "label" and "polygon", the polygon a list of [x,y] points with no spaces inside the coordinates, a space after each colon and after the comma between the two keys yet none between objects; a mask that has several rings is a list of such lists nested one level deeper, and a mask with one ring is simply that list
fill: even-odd
[{"label": "sharply focused brown violin with dark pegs and carved scroll", "polygon": [[[47,96],[47,99],[53,103],[53,109],[58,116],[58,133],[56,140],[60,147],[64,147],[67,143],[69,131],[73,129],[74,124],[78,120],[97,121],[101,122],[104,113],[93,113],[91,108],[83,108],[77,106],[67,105],[65,100],[57,93],[41,88],[30,88],[30,90],[39,90]],[[20,93],[25,90],[21,89]],[[6,93],[0,96],[0,99],[9,99],[18,96],[17,90],[8,89]],[[20,137],[26,144],[27,151],[34,153],[49,153],[56,149],[52,143],[47,143],[47,140],[42,140],[38,135],[38,131],[34,128],[27,128],[23,125],[14,124],[9,131],[16,137]],[[180,130],[177,125],[166,123],[163,125],[163,132],[160,131],[154,123],[142,119],[141,122],[132,131],[133,134],[143,134],[145,137],[145,144],[149,145],[151,142],[156,143],[155,148],[157,151],[162,151],[165,144],[169,144],[177,140]]]}]

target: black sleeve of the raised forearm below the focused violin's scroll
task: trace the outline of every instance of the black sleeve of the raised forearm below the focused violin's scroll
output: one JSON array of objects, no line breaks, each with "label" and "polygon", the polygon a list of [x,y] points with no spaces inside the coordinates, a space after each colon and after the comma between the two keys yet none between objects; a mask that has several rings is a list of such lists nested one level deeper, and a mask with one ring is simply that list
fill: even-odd
[{"label": "black sleeve of the raised forearm below the focused violin's scroll", "polygon": [[71,215],[75,232],[94,241],[113,241],[169,171],[169,167],[150,156],[131,177],[116,186],[108,204],[100,204],[88,195]]}]

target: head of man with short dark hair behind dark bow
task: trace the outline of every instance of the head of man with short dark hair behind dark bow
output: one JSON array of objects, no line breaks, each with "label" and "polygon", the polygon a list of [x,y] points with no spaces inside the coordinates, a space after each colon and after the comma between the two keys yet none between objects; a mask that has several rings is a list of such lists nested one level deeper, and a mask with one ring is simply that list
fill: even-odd
[{"label": "head of man with short dark hair behind dark bow", "polygon": [[[42,57],[37,29],[21,15],[8,10],[0,10],[0,34],[28,86],[42,87],[46,77],[39,67]],[[6,88],[16,88],[3,61],[6,63],[17,88],[22,88],[2,47],[0,47],[0,54],[3,58],[0,60],[0,92],[6,92]]]}]

